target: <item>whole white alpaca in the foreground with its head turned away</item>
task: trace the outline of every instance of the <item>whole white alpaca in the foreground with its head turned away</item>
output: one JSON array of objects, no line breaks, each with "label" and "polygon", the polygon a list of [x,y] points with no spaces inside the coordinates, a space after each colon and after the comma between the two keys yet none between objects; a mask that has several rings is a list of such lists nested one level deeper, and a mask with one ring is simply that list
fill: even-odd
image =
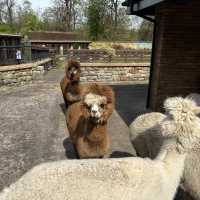
[{"label": "whole white alpaca in the foreground with its head turned away", "polygon": [[75,160],[33,168],[0,200],[172,200],[187,152],[199,147],[200,108],[188,99],[166,100],[167,116],[154,127],[166,138],[155,160]]}]

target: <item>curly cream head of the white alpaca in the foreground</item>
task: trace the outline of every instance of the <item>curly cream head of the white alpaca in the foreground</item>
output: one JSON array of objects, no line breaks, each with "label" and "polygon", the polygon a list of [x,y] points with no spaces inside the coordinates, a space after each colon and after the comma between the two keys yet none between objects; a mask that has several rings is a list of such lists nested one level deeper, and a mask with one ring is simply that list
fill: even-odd
[{"label": "curly cream head of the white alpaca in the foreground", "polygon": [[162,135],[174,137],[181,152],[200,148],[200,111],[188,98],[172,97],[164,103],[167,117],[161,122]]}]

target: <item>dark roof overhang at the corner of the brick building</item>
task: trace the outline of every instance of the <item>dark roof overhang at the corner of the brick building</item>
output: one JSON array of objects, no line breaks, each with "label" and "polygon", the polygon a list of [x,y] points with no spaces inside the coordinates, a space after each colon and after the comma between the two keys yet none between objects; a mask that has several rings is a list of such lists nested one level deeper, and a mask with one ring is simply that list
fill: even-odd
[{"label": "dark roof overhang at the corner of the brick building", "polygon": [[155,14],[155,6],[165,0],[126,0],[122,3],[127,6],[130,15],[150,15]]}]

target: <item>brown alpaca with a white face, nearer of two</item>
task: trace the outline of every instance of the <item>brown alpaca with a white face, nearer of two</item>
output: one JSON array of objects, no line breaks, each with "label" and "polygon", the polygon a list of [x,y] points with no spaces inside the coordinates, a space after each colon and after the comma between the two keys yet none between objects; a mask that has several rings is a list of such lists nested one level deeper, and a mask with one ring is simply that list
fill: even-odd
[{"label": "brown alpaca with a white face, nearer of two", "polygon": [[71,140],[80,158],[101,158],[110,148],[107,121],[114,109],[109,86],[87,85],[89,92],[66,113]]}]

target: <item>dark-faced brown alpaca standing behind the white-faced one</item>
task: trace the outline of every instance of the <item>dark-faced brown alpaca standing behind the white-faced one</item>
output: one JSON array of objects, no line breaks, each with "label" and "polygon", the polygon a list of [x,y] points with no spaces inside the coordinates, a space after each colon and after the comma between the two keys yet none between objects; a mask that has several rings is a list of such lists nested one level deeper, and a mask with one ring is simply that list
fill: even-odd
[{"label": "dark-faced brown alpaca standing behind the white-faced one", "polygon": [[79,91],[80,73],[80,63],[76,60],[69,60],[65,66],[65,76],[60,82],[66,107],[81,99]]}]

